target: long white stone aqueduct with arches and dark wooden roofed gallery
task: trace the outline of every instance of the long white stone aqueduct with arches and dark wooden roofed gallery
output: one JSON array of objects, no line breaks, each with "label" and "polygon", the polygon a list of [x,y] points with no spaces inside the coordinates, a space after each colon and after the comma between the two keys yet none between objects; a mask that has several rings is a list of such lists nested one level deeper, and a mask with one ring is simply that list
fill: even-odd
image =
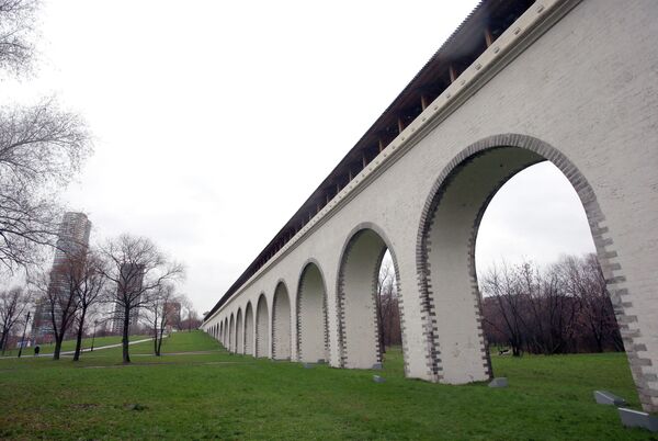
[{"label": "long white stone aqueduct with arches and dark wooden roofed gallery", "polygon": [[640,400],[658,410],[658,5],[485,0],[206,315],[234,352],[381,361],[393,256],[408,377],[491,375],[474,246],[488,202],[552,161],[585,207]]}]

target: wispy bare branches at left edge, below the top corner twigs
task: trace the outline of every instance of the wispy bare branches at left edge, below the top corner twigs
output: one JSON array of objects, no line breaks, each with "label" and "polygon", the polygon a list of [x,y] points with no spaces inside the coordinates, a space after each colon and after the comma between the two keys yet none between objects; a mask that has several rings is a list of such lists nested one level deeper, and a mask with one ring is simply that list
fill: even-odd
[{"label": "wispy bare branches at left edge, below the top corner twigs", "polygon": [[[1,1],[1,0],[0,0]],[[35,248],[54,245],[55,192],[79,170],[90,136],[79,116],[53,100],[0,109],[0,263],[34,263]]]}]

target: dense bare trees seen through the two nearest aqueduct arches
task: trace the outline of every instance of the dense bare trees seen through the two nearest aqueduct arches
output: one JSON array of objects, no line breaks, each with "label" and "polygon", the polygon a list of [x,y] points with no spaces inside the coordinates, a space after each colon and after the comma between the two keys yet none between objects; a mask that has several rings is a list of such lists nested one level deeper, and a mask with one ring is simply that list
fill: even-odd
[{"label": "dense bare trees seen through the two nearest aqueduct arches", "polygon": [[[495,265],[478,278],[483,329],[491,348],[523,353],[623,351],[605,278],[593,253],[566,256],[545,269],[531,262]],[[377,284],[379,346],[401,344],[393,262]]]}]

